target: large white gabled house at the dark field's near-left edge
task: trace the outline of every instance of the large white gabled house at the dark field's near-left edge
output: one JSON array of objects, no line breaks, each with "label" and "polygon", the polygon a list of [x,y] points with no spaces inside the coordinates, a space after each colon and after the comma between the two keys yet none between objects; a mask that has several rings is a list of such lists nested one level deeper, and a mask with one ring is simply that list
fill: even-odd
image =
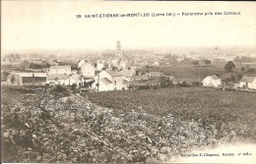
[{"label": "large white gabled house at the dark field's near-left edge", "polygon": [[121,90],[128,88],[128,82],[129,80],[113,68],[101,71],[96,75],[92,87],[98,91]]}]

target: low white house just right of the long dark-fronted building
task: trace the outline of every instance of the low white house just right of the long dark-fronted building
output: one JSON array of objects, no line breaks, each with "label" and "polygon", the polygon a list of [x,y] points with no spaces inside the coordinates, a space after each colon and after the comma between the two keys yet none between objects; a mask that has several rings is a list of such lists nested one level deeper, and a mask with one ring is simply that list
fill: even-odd
[{"label": "low white house just right of the long dark-fronted building", "polygon": [[46,83],[49,84],[65,84],[65,81],[68,79],[66,74],[48,74],[46,76]]}]

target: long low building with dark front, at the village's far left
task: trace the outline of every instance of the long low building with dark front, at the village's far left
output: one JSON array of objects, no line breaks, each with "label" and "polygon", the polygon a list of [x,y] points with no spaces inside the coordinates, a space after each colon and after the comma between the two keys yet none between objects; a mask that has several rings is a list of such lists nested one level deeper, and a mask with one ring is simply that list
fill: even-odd
[{"label": "long low building with dark front, at the village's far left", "polygon": [[7,82],[13,85],[36,84],[42,85],[46,82],[46,73],[15,73],[7,77]]}]

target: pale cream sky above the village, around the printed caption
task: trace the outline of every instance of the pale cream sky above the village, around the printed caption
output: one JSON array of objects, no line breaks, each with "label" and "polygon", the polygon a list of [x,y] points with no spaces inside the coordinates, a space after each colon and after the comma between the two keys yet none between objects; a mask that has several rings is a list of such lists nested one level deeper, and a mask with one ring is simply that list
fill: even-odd
[{"label": "pale cream sky above the village, around the printed caption", "polygon": [[[1,2],[2,52],[256,46],[255,2]],[[77,19],[76,15],[240,12],[240,15]]]}]

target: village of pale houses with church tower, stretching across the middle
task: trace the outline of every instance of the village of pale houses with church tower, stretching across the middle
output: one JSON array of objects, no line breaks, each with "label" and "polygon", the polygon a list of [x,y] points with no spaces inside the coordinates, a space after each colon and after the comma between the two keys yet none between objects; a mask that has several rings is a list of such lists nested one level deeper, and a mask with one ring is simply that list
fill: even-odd
[{"label": "village of pale houses with church tower, stretching across the middle", "polygon": [[[184,65],[184,61],[188,59],[183,55],[176,57],[175,61]],[[219,75],[219,72],[215,73],[215,71],[211,74],[207,72],[207,75],[200,73],[201,70],[213,68],[213,59],[201,61],[200,57],[196,57],[196,59],[198,60],[194,59],[186,63],[190,62],[190,65],[193,66],[192,69],[198,69],[198,75],[195,76],[199,78],[186,82],[179,79],[179,75],[172,75],[168,72],[164,74],[172,62],[166,59],[166,56],[152,52],[147,53],[147,55],[138,52],[137,54],[133,53],[133,55],[125,53],[121,50],[119,40],[116,41],[116,50],[106,50],[101,57],[74,59],[72,62],[58,62],[57,59],[21,59],[18,54],[11,54],[5,56],[1,61],[2,70],[7,70],[1,71],[1,85],[63,85],[96,92],[160,88],[170,85],[256,89],[254,66],[252,68],[249,68],[248,65],[246,67],[241,66],[242,72],[247,70],[251,74],[236,73],[235,75],[231,73],[231,77],[228,78],[229,81],[224,81],[222,77],[225,73],[223,75]],[[230,70],[235,68],[230,67]]]}]

